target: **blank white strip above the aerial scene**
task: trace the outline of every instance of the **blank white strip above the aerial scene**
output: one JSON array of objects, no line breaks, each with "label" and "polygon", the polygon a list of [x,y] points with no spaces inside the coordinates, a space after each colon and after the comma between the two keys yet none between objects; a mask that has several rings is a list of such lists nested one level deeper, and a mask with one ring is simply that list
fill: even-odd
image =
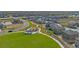
[{"label": "blank white strip above the aerial scene", "polygon": [[78,11],[78,0],[0,0],[2,11]]}]

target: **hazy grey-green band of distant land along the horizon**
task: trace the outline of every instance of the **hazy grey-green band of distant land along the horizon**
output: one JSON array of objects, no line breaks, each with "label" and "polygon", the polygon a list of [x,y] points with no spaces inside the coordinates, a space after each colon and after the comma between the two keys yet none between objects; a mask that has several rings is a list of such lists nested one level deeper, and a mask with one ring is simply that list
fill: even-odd
[{"label": "hazy grey-green band of distant land along the horizon", "polygon": [[48,16],[48,15],[79,15],[79,11],[0,11],[4,16]]}]

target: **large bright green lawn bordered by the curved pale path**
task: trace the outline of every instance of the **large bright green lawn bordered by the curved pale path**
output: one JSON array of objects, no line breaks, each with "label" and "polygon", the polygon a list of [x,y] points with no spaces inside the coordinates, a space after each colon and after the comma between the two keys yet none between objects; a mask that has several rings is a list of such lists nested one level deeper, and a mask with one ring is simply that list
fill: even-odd
[{"label": "large bright green lawn bordered by the curved pale path", "polygon": [[45,35],[26,35],[18,32],[0,36],[0,48],[60,48],[60,46]]}]

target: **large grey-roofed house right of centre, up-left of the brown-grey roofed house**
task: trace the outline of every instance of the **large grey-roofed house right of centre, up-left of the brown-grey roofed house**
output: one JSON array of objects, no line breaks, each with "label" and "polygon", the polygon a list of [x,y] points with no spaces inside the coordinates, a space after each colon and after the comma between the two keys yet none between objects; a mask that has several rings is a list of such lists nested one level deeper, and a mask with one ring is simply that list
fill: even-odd
[{"label": "large grey-roofed house right of centre, up-left of the brown-grey roofed house", "polygon": [[48,22],[48,23],[46,24],[46,27],[47,27],[48,29],[53,30],[54,33],[55,33],[55,34],[58,34],[58,35],[59,35],[59,34],[62,34],[62,31],[65,30],[63,26],[61,26],[61,25],[58,24],[58,23],[54,23],[54,22]]}]

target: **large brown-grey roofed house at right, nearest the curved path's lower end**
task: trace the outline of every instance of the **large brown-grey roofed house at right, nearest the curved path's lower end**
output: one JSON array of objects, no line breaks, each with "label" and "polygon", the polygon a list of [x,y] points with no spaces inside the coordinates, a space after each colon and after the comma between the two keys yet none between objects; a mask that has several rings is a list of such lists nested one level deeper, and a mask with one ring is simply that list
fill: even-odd
[{"label": "large brown-grey roofed house at right, nearest the curved path's lower end", "polygon": [[65,30],[62,33],[62,38],[64,41],[67,43],[75,43],[76,38],[79,37],[79,33],[77,31],[72,31],[72,30]]}]

